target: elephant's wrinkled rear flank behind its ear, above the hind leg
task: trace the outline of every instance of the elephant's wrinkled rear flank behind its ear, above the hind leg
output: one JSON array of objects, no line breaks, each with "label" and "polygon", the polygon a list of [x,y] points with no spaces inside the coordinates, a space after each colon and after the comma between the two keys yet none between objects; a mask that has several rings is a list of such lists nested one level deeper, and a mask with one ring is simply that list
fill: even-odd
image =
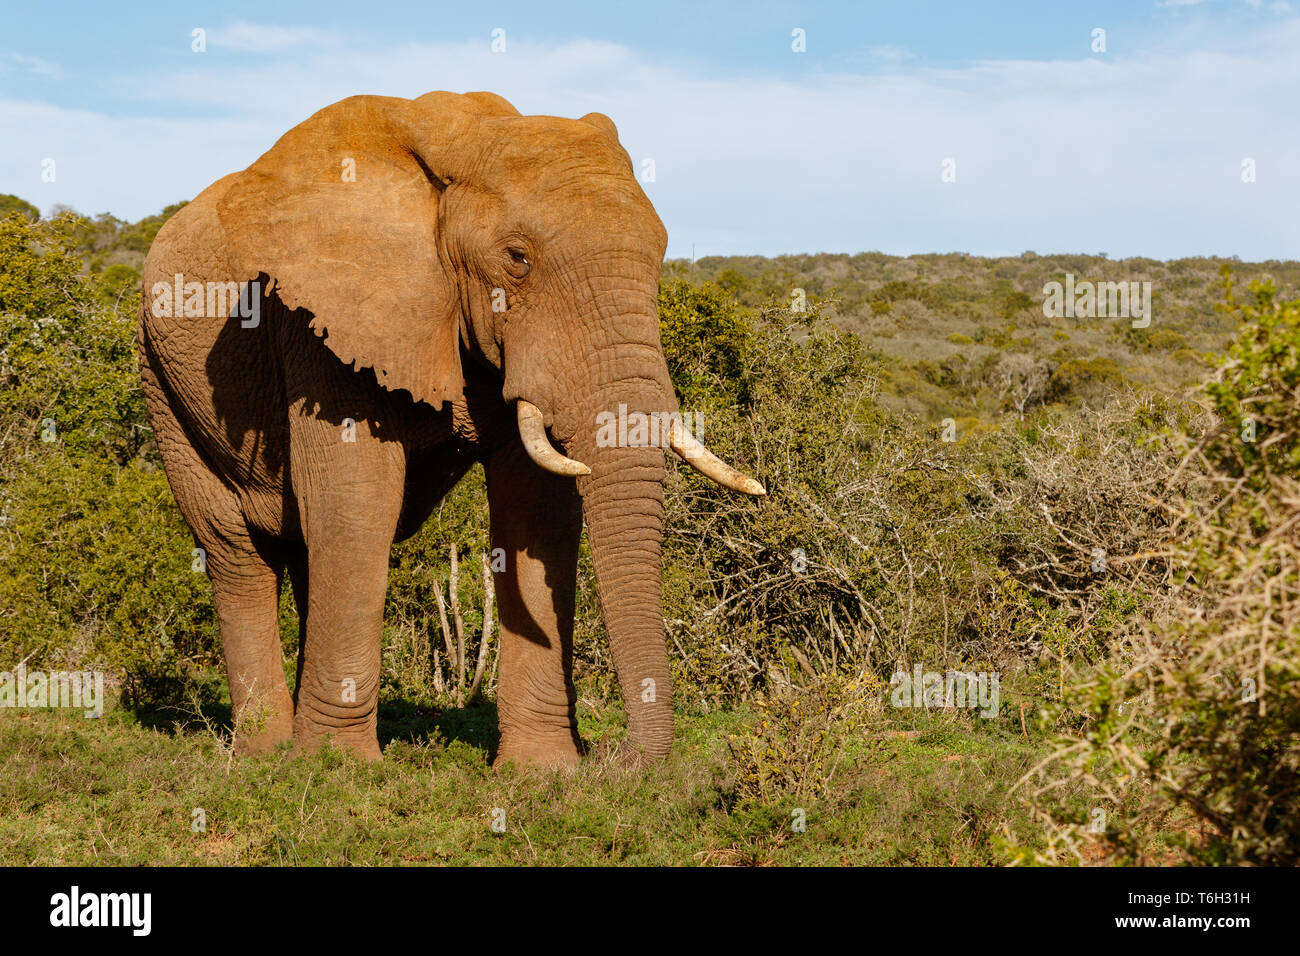
[{"label": "elephant's wrinkled rear flank behind its ear, above the hind leg", "polygon": [[[257,277],[234,272],[217,219],[217,203],[238,176],[204,190],[168,220],[151,246],[143,271],[140,364],[155,427],[160,416],[174,420],[239,496],[250,522],[276,532],[289,447],[280,360],[260,297],[240,302],[238,293],[240,282]],[[200,289],[202,308],[195,298]]]}]

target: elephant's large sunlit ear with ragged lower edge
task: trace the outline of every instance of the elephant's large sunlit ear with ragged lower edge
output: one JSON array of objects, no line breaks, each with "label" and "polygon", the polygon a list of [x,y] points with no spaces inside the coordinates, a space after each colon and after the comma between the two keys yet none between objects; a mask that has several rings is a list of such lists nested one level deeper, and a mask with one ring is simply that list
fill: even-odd
[{"label": "elephant's large sunlit ear with ragged lower edge", "polygon": [[326,107],[239,174],[217,213],[238,278],[265,273],[339,359],[438,407],[463,382],[438,204],[471,160],[478,104],[421,100]]}]

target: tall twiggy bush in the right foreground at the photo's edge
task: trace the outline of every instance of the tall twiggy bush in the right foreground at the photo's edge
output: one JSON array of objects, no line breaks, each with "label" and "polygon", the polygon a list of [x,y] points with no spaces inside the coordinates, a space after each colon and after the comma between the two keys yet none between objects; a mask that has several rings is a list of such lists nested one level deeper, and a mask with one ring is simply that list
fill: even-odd
[{"label": "tall twiggy bush in the right foreground at the photo's edge", "polygon": [[[1178,515],[1165,611],[1080,684],[1084,732],[1060,763],[1093,788],[1112,822],[1096,839],[1122,860],[1165,847],[1206,864],[1300,860],[1300,302],[1253,284],[1240,330],[1208,386],[1217,421],[1188,438],[1199,476]],[[1044,791],[1057,848],[1083,821]]]}]

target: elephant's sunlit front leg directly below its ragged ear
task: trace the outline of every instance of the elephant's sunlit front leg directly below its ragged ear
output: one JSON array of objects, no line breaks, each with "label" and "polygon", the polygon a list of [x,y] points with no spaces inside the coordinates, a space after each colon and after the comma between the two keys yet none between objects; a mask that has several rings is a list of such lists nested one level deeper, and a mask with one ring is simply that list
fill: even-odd
[{"label": "elephant's sunlit front leg directly below its ragged ear", "polygon": [[292,455],[308,609],[294,740],[313,749],[333,737],[378,760],[384,597],[406,458],[396,442],[370,436],[363,419],[303,423]]}]

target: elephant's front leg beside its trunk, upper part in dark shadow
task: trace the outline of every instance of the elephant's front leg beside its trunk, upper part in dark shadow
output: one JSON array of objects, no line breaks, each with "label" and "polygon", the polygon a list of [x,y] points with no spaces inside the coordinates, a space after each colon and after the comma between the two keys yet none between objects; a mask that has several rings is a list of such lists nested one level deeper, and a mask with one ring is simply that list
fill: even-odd
[{"label": "elephant's front leg beside its trunk, upper part in dark shadow", "polygon": [[[582,502],[573,479],[542,471],[516,437],[486,463],[500,614],[497,763],[576,763],[573,593]],[[499,551],[497,549],[500,549]]]}]

